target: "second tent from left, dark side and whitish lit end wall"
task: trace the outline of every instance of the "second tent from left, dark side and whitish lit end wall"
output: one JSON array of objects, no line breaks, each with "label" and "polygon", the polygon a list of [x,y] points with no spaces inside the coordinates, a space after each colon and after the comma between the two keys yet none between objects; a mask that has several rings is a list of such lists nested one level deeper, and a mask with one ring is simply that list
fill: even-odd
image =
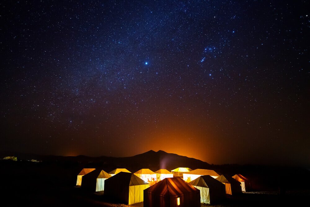
[{"label": "second tent from left, dark side and whitish lit end wall", "polygon": [[83,176],[81,187],[89,191],[104,191],[104,181],[110,177],[104,170],[93,170]]}]

